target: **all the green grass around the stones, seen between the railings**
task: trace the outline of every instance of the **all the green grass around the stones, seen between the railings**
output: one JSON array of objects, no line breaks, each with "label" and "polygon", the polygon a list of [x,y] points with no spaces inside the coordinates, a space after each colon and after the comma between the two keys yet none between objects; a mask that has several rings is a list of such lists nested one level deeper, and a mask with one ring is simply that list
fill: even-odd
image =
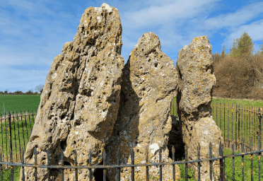
[{"label": "all the green grass around the stones, seen between the railings", "polygon": [[[40,95],[0,95],[0,113],[4,112],[4,107],[3,107],[3,103],[5,103],[5,108],[6,111],[11,110],[13,111],[19,111],[20,110],[34,110],[38,108],[38,105],[40,104]],[[232,139],[232,109],[227,109],[225,108],[225,124],[223,124],[223,103],[226,103],[226,105],[232,105],[233,103],[233,107],[235,107],[235,104],[240,104],[244,107],[246,106],[253,106],[253,107],[263,107],[263,101],[258,101],[258,100],[229,100],[229,99],[219,99],[219,98],[214,98],[212,101],[212,105],[216,106],[216,103],[218,103],[218,107],[217,107],[217,111],[218,111],[218,117],[216,118],[216,107],[214,107],[214,110],[212,111],[212,115],[214,116],[214,120],[217,122],[218,127],[220,127],[220,122],[221,122],[221,130],[223,135],[225,135],[225,137],[230,137]],[[219,107],[221,103],[221,108]],[[177,116],[177,112],[176,112],[176,98],[173,99],[173,102],[171,104],[171,115],[175,115]],[[228,110],[230,110],[229,112],[229,117],[228,118]],[[220,112],[221,112],[221,117],[220,117]],[[235,111],[234,111],[235,113]],[[240,112],[240,119],[241,116],[245,117],[247,115],[246,111]],[[254,116],[254,117],[253,117]],[[243,120],[243,122],[241,121],[240,126],[242,125],[243,127],[240,127],[240,135],[245,135],[246,134],[246,130],[248,132],[250,132],[250,136],[252,136],[252,133],[255,134],[255,129],[257,129],[257,124],[255,124],[255,114],[252,116],[252,114],[250,114],[250,118],[249,117],[245,117],[245,119],[241,119]],[[252,117],[254,118],[254,121],[252,119]],[[238,118],[238,117],[237,117]],[[35,117],[34,117],[35,119]],[[228,129],[227,129],[227,122],[226,120],[230,120],[228,122]],[[235,114],[233,114],[233,139],[235,139]],[[8,120],[8,119],[7,119]],[[248,127],[246,127],[246,121],[248,120],[247,124]],[[28,117],[26,117],[26,125],[25,126],[25,117],[22,117],[22,121],[21,121],[21,117],[17,117],[15,119],[11,119],[11,127],[12,130],[13,128],[16,129],[16,132],[12,132],[12,146],[13,146],[13,161],[16,160],[16,154],[14,154],[16,151],[17,153],[20,153],[20,148],[18,148],[19,145],[19,141],[18,141],[18,137],[21,138],[21,148],[26,146],[26,144],[28,143],[28,137],[30,137],[31,134],[31,129],[33,129],[33,117],[30,118],[30,122]],[[30,124],[31,123],[31,124]],[[252,123],[253,123],[253,127],[252,127]],[[23,124],[23,125],[22,125]],[[18,125],[18,126],[17,126]],[[30,127],[31,125],[31,127]],[[225,127],[223,126],[225,125]],[[19,129],[18,129],[19,127]],[[224,129],[225,128],[225,129]],[[242,129],[241,129],[242,128]],[[18,136],[18,130],[19,130],[19,136]],[[245,130],[245,131],[244,131]],[[6,138],[8,138],[8,123],[6,122],[1,122],[1,127],[0,127],[0,145],[2,147],[2,154],[6,155],[6,144],[7,146],[9,146],[9,142],[8,139],[6,140]],[[228,131],[228,134],[227,134]],[[243,131],[243,132],[242,132]],[[2,141],[2,135],[3,136],[3,141]],[[7,135],[7,137],[6,137]],[[16,135],[16,138],[15,138]],[[15,141],[16,140],[16,141]],[[2,142],[1,142],[2,141]],[[232,150],[228,149],[228,148],[224,148],[223,151],[224,155],[230,155],[232,154]],[[235,153],[240,153],[240,151],[235,151]],[[8,155],[8,158],[10,156]],[[6,158],[6,156],[4,156],[4,158]],[[20,159],[19,159],[20,160]],[[242,180],[242,169],[241,169],[241,156],[235,157],[235,180]],[[261,160],[261,164],[262,164]],[[244,156],[244,165],[245,165],[245,180],[250,180],[250,156]],[[15,173],[15,180],[19,179],[19,170],[20,168],[15,168],[16,171],[14,171]],[[256,156],[253,156],[253,170],[254,170],[254,174],[253,177],[255,180],[258,180],[258,158]],[[185,175],[185,165],[180,165],[180,171],[181,171],[181,175],[184,176]],[[4,170],[4,180],[10,180],[10,169]],[[189,175],[189,180],[194,180],[194,173],[193,171],[191,171],[189,169],[188,171],[188,175]],[[263,176],[262,170],[261,170],[261,175]],[[232,180],[232,158],[226,158],[226,177],[227,180]],[[158,180],[158,177],[155,178],[156,180]],[[185,178],[183,177],[182,180],[185,180]]]}]

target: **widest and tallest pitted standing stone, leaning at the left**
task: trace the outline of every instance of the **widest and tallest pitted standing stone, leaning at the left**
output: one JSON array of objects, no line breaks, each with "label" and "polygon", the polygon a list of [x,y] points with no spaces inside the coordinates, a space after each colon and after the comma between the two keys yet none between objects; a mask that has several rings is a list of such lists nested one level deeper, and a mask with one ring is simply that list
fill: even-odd
[{"label": "widest and tallest pitted standing stone, leaning at the left", "polygon": [[[122,25],[117,8],[103,4],[87,8],[73,42],[66,42],[47,74],[33,132],[25,151],[25,163],[88,165],[102,162],[119,109],[124,59]],[[94,169],[92,170],[94,172]],[[64,170],[74,180],[74,170]],[[88,180],[88,169],[78,169],[78,180]],[[51,175],[57,173],[51,170]],[[25,168],[25,180],[35,180],[34,168]],[[47,180],[47,169],[37,169],[37,180]],[[94,177],[93,177],[93,180]]]}]

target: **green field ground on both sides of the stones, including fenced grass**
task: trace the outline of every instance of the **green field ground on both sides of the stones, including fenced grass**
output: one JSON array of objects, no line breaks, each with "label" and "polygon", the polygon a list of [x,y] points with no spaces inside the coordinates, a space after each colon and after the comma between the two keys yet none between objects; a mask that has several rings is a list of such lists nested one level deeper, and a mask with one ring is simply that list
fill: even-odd
[{"label": "green field ground on both sides of the stones, including fenced grass", "polygon": [[[217,106],[216,106],[217,103]],[[221,105],[220,105],[221,103]],[[225,103],[225,105],[223,105]],[[0,114],[1,118],[4,117],[4,107],[6,110],[6,117],[8,117],[8,111],[11,111],[11,116],[13,114],[15,117],[11,118],[11,139],[12,139],[12,150],[13,150],[13,162],[21,161],[21,151],[22,148],[25,149],[30,134],[33,129],[36,110],[40,104],[40,95],[0,95]],[[229,104],[229,106],[228,106]],[[232,106],[233,104],[233,106]],[[237,109],[240,105],[240,110]],[[222,135],[224,139],[224,155],[232,154],[232,144],[235,146],[235,153],[241,153],[240,141],[241,138],[245,138],[245,144],[253,144],[253,149],[258,148],[257,130],[258,130],[258,119],[257,114],[258,108],[261,107],[261,112],[263,108],[263,101],[260,100],[231,100],[231,99],[221,99],[214,98],[211,103],[212,111],[211,114],[218,125],[221,127]],[[242,109],[243,110],[242,110]],[[255,110],[257,108],[257,110]],[[25,112],[24,112],[25,110]],[[30,117],[28,115],[28,110]],[[32,116],[32,110],[35,114]],[[18,112],[18,117],[16,117],[16,111]],[[216,113],[217,112],[217,113]],[[22,115],[21,115],[22,113]],[[177,116],[177,106],[176,98],[173,98],[171,103],[171,115]],[[217,115],[217,116],[216,116]],[[232,118],[233,115],[233,118]],[[239,120],[239,122],[238,122]],[[238,129],[239,124],[239,129]],[[239,130],[239,134],[238,134]],[[9,139],[8,139],[8,119],[6,122],[1,119],[0,127],[0,146],[2,160],[10,161],[9,154]],[[250,138],[250,139],[249,139]],[[252,138],[252,139],[251,139]],[[237,144],[235,141],[237,140]],[[229,146],[229,148],[228,148]],[[250,148],[245,147],[245,151],[250,151]],[[233,172],[233,158],[226,158],[226,179],[232,180]],[[182,160],[185,160],[182,158]],[[253,177],[254,180],[258,180],[259,172],[259,157],[252,156],[253,160]],[[235,180],[242,180],[242,157],[235,157]],[[263,165],[263,160],[260,160],[261,165]],[[245,180],[250,180],[251,176],[251,159],[250,156],[244,156],[245,165]],[[181,176],[185,177],[185,165],[180,165]],[[261,169],[261,177],[263,178],[263,170]],[[19,180],[20,168],[14,168],[14,178]],[[189,180],[194,180],[194,173],[192,170],[188,169]],[[158,177],[151,178],[152,180],[158,180]],[[11,180],[11,170],[4,170],[4,180]],[[182,178],[185,180],[185,178]]]}]

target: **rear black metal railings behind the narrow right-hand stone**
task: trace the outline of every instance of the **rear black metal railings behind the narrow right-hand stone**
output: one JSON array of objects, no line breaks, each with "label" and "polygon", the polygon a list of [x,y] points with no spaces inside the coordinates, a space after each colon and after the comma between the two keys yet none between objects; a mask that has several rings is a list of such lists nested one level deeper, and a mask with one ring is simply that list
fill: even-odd
[{"label": "rear black metal railings behind the narrow right-hand stone", "polygon": [[[223,105],[223,106],[222,106]],[[177,105],[174,99],[171,103],[171,115],[177,115]],[[217,126],[222,131],[223,146],[232,148],[235,145],[236,150],[241,151],[241,140],[244,139],[245,151],[256,151],[259,148],[259,136],[262,139],[262,115],[263,109],[247,105],[235,104],[226,106],[225,103],[211,104],[211,115]],[[260,140],[262,143],[262,140]]]}]

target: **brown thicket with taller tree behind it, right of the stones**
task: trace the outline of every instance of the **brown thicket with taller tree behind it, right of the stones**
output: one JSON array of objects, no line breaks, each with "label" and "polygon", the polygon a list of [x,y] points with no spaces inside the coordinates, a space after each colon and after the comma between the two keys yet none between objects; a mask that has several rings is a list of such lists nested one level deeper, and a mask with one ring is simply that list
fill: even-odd
[{"label": "brown thicket with taller tree behind it, right of the stones", "polygon": [[212,54],[216,76],[214,96],[263,100],[263,44],[253,54],[254,44],[250,35],[244,32],[233,40],[228,54],[225,46],[221,54]]}]

